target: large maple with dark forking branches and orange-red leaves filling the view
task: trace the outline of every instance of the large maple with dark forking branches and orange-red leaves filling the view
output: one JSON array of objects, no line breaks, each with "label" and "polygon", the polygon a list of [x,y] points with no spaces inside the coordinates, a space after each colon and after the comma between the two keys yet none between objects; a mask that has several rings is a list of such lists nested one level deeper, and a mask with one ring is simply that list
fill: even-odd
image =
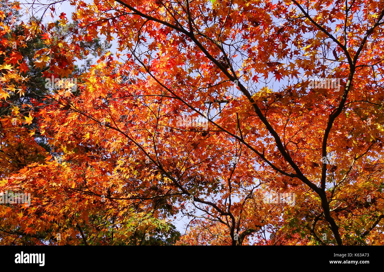
[{"label": "large maple with dark forking branches and orange-red leaves filling the view", "polygon": [[[18,38],[43,37],[29,65],[59,81],[3,116],[3,153],[23,142],[28,156],[0,158],[1,189],[31,192],[31,205],[0,205],[2,243],[151,244],[173,231],[157,241],[383,244],[384,3],[70,3],[66,37],[31,20]],[[10,39],[2,103],[30,80]],[[116,53],[97,44],[76,70],[95,39]],[[268,203],[271,192],[295,201]]]}]

